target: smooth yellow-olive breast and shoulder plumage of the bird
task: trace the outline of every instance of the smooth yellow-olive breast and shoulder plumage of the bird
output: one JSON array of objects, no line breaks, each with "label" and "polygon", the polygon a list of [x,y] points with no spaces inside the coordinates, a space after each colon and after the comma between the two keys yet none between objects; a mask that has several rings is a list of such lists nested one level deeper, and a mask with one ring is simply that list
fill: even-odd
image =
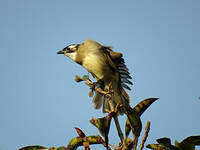
[{"label": "smooth yellow-olive breast and shoulder plumage of the bird", "polygon": [[79,46],[77,59],[81,57],[82,66],[92,73],[96,80],[109,80],[113,77],[112,73],[116,74],[117,68],[101,47],[99,43],[87,40]]}]

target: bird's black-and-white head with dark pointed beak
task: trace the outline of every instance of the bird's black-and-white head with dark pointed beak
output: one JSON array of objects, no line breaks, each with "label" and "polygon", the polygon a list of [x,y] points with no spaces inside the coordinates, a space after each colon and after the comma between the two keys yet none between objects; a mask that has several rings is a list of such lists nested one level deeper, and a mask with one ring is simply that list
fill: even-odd
[{"label": "bird's black-and-white head with dark pointed beak", "polygon": [[63,48],[61,51],[58,51],[57,54],[64,54],[65,56],[71,58],[72,60],[75,60],[77,56],[78,47],[79,44],[71,44]]}]

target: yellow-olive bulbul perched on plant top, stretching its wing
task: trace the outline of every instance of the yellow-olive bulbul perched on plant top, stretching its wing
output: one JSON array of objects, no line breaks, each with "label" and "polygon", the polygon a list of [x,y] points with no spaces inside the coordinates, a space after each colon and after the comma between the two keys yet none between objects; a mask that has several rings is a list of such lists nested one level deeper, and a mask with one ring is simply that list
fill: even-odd
[{"label": "yellow-olive bulbul perched on plant top, stretching its wing", "polygon": [[[100,83],[102,89],[107,89],[111,83],[113,93],[111,98],[95,92],[94,108],[103,105],[103,113],[115,111],[118,105],[129,105],[129,95],[124,88],[130,90],[131,84],[128,68],[122,54],[114,52],[111,47],[103,46],[94,40],[86,40],[82,44],[71,44],[57,54],[64,54],[84,67]],[[110,100],[110,102],[109,102]],[[119,114],[123,114],[123,110]]]}]

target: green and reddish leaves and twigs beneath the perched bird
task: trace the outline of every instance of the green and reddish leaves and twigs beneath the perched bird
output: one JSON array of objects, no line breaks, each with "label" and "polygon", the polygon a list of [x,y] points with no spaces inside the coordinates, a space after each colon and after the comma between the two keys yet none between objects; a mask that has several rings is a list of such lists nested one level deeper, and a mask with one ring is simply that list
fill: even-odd
[{"label": "green and reddish leaves and twigs beneath the perched bird", "polygon": [[[110,91],[105,92],[99,88],[94,87],[94,83],[91,82],[88,75],[84,75],[82,78],[76,76],[75,81],[86,81],[86,85],[91,88],[89,96],[93,95],[93,91],[99,92],[101,94],[111,93]],[[80,128],[75,127],[78,136],[72,138],[67,146],[61,146],[58,148],[46,148],[44,146],[32,145],[22,147],[19,150],[76,150],[80,146],[83,146],[85,150],[90,150],[90,145],[93,144],[101,144],[107,150],[136,150],[138,139],[141,136],[142,130],[141,115],[149,108],[152,103],[157,100],[158,98],[148,98],[142,100],[133,108],[130,106],[119,106],[118,109],[123,109],[125,113],[124,116],[127,118],[124,133],[121,130],[118,121],[118,111],[116,110],[113,112],[109,112],[108,115],[106,115],[105,117],[92,117],[92,119],[90,120],[90,123],[98,129],[100,135],[88,136]],[[114,146],[109,141],[109,131],[112,119],[114,119],[115,121],[118,136],[121,140],[117,146]],[[150,122],[148,121],[146,124],[144,136],[139,145],[139,150],[142,150],[144,148],[144,143],[146,142],[146,139],[148,137],[149,130]],[[129,137],[131,132],[133,136],[132,138]],[[153,150],[195,150],[196,145],[200,145],[200,136],[190,136],[180,143],[178,141],[175,141],[174,145],[171,144],[171,140],[169,138],[160,138],[157,139],[157,144],[148,144],[146,147]]]}]

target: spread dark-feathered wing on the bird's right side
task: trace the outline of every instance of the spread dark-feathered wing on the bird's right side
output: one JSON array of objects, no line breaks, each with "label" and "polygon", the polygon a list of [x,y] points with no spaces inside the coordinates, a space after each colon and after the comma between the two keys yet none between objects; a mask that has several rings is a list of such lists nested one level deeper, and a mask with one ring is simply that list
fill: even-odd
[{"label": "spread dark-feathered wing on the bird's right side", "polygon": [[131,88],[127,84],[133,85],[133,83],[130,81],[130,79],[132,79],[132,77],[130,76],[128,68],[125,64],[123,55],[119,52],[112,51],[112,49],[110,47],[104,47],[104,48],[108,51],[111,59],[117,66],[117,70],[120,75],[120,81],[121,81],[122,87],[124,87],[128,90],[131,90]]}]

